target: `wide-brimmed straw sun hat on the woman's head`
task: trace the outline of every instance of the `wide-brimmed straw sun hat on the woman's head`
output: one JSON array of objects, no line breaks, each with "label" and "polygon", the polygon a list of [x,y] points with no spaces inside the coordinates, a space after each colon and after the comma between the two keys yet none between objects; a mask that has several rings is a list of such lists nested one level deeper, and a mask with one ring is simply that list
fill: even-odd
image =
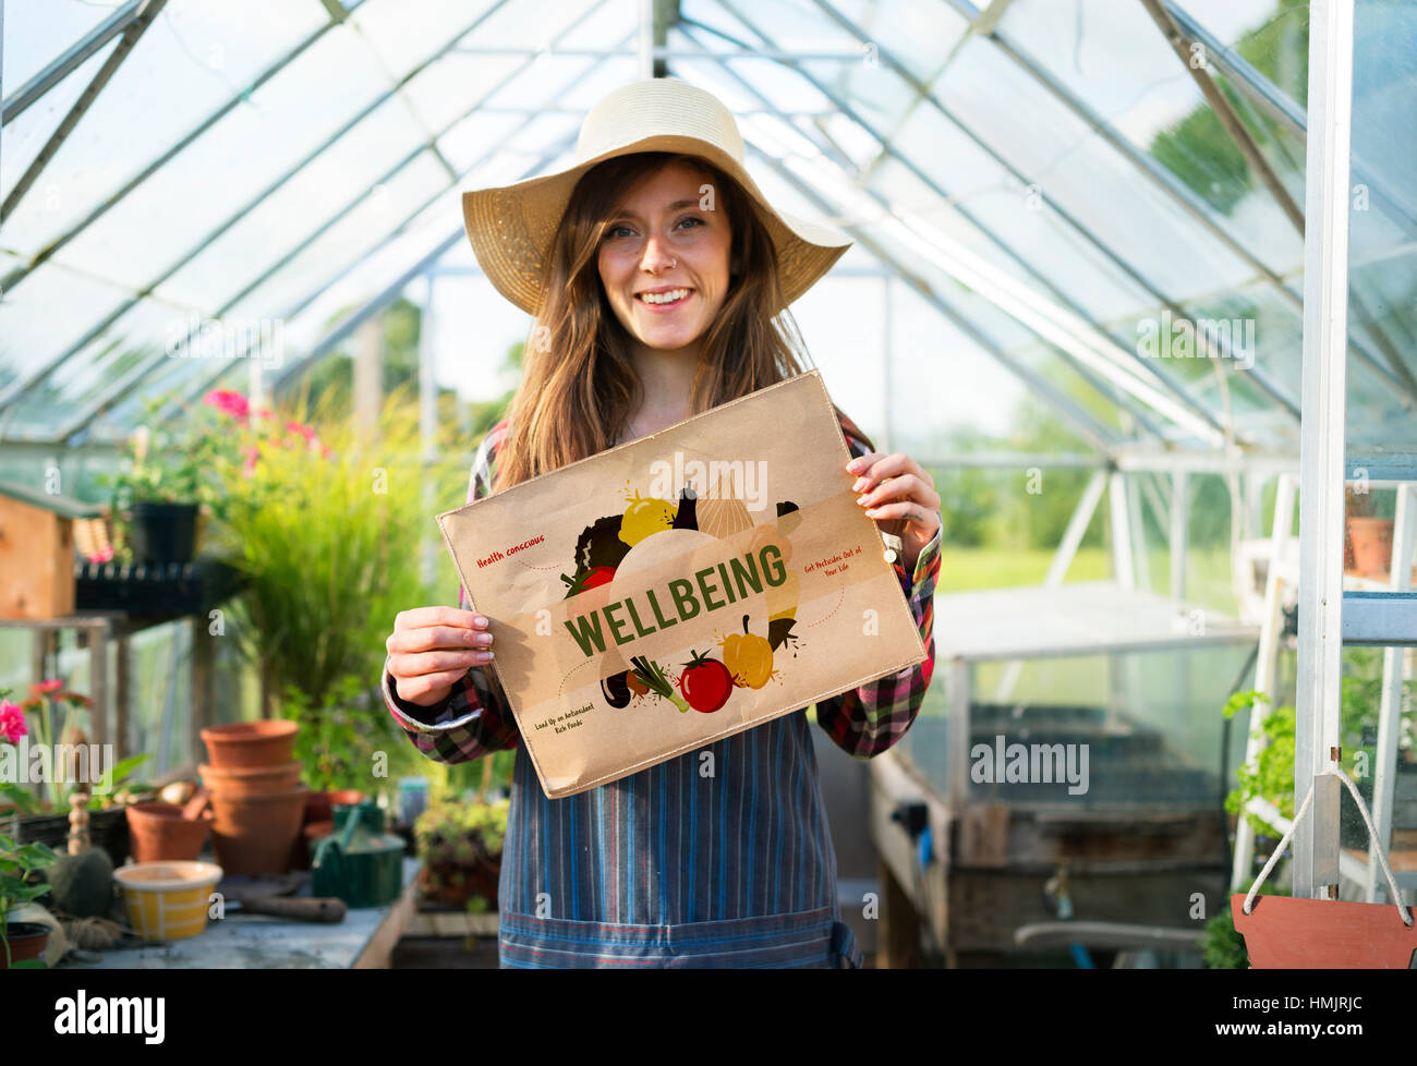
[{"label": "wide-brimmed straw sun hat on the woman's head", "polygon": [[792,218],[768,203],[743,164],[738,123],[717,96],[677,78],[653,78],[623,85],[591,108],[568,169],[462,194],[468,240],[497,292],[537,313],[543,264],[571,190],[597,163],[632,152],[700,156],[735,179],[772,234],[788,303],[852,244],[837,230]]}]

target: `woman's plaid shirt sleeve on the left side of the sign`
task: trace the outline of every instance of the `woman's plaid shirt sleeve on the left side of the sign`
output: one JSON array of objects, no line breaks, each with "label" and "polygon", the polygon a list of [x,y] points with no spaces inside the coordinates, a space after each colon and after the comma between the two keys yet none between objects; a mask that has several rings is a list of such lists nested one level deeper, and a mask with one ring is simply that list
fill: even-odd
[{"label": "woman's plaid shirt sleeve on the left side of the sign", "polygon": [[[506,437],[507,422],[493,427],[478,448],[468,482],[468,502],[490,495],[493,462]],[[458,607],[468,610],[468,594],[458,585]],[[466,763],[492,751],[517,746],[520,733],[496,673],[472,666],[452,686],[442,703],[427,707],[401,699],[384,662],[384,703],[394,722],[422,754],[438,763]]]}]

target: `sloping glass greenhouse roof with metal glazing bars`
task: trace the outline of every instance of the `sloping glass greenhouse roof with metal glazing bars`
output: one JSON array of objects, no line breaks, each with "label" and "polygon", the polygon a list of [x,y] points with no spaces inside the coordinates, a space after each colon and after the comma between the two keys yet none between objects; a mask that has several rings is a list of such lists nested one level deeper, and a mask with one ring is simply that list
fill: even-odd
[{"label": "sloping glass greenhouse roof with metal glazing bars", "polygon": [[[1302,210],[1306,6],[1163,6]],[[279,384],[421,274],[485,299],[458,193],[568,162],[639,71],[636,0],[170,0],[82,108],[136,7],[6,6],[0,444],[113,439],[146,397],[242,383],[245,360],[187,350],[194,322],[279,320]],[[1297,452],[1302,234],[1142,4],[659,7],[667,72],[738,116],[774,203],[857,241],[795,315],[863,425],[1006,448],[1033,393],[1073,451]],[[1349,394],[1413,425],[1397,7],[1360,3],[1356,27],[1386,58],[1355,72]],[[1193,357],[1142,342],[1180,319],[1227,330]],[[463,354],[439,356],[459,388]]]}]

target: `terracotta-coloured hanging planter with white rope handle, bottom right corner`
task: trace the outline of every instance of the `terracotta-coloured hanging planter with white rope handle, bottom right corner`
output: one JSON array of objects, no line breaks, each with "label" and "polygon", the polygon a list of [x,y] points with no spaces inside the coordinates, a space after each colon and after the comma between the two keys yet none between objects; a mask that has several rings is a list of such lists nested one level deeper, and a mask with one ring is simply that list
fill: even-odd
[{"label": "terracotta-coloured hanging planter with white rope handle, bottom right corner", "polygon": [[[1331,763],[1325,774],[1336,774],[1353,794],[1357,809],[1373,839],[1373,849],[1394,904],[1346,903],[1342,900],[1255,896],[1260,885],[1294,836],[1314,802],[1314,788],[1304,798],[1294,824],[1260,870],[1250,892],[1230,897],[1230,916],[1236,931],[1244,937],[1253,970],[1407,970],[1417,951],[1417,920],[1411,907],[1401,904],[1397,882],[1387,866],[1387,856],[1377,842],[1377,831],[1367,815],[1367,805],[1348,774]],[[1319,774],[1322,777],[1323,774]],[[1393,914],[1393,907],[1397,913]]]}]

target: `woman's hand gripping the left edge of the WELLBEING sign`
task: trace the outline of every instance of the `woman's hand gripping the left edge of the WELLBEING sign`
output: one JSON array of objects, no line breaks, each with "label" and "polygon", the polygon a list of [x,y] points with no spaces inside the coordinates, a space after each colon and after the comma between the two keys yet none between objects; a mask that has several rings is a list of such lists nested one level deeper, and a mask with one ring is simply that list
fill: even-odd
[{"label": "woman's hand gripping the left edge of the WELLBEING sign", "polygon": [[388,648],[388,672],[400,699],[431,707],[442,703],[469,666],[492,662],[489,619],[456,607],[400,611]]}]

